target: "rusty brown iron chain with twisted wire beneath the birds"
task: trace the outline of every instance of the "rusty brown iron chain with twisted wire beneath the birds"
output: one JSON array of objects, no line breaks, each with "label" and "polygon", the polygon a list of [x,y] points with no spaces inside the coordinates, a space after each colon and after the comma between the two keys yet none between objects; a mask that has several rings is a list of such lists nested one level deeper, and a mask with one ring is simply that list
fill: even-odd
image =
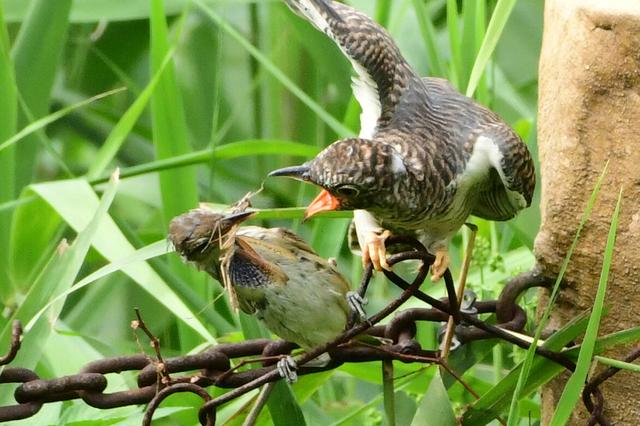
[{"label": "rusty brown iron chain with twisted wire beneath the birds", "polygon": [[[518,297],[529,288],[548,287],[551,284],[549,280],[536,271],[527,272],[513,278],[505,286],[497,300],[472,303],[468,310],[450,309],[450,306],[458,306],[458,303],[449,271],[444,276],[448,294],[446,299],[435,299],[421,292],[419,287],[427,277],[433,256],[413,240],[392,238],[389,241],[389,244],[396,243],[410,244],[413,249],[389,256],[390,265],[406,260],[422,262],[414,281],[409,284],[394,272],[385,271],[387,279],[402,288],[403,293],[367,321],[353,325],[334,341],[297,358],[299,375],[333,369],[345,362],[399,360],[439,364],[458,378],[456,373],[451,371],[446,363],[439,358],[438,351],[423,349],[420,343],[415,340],[418,322],[446,322],[449,315],[455,320],[456,337],[460,345],[477,340],[501,338],[523,348],[529,347],[528,342],[505,330],[522,332],[527,318],[524,310],[516,303]],[[369,266],[363,274],[359,291],[361,295],[366,292],[372,273],[372,268]],[[386,325],[376,325],[412,296],[428,303],[432,308],[412,308],[399,311]],[[478,319],[478,315],[481,314],[495,314],[497,325],[491,325]],[[141,321],[141,318],[139,319]],[[350,340],[362,333],[386,338],[390,343],[371,346]],[[22,328],[20,323],[16,321],[13,327],[10,351],[6,356],[0,358],[0,366],[9,364],[15,358],[20,349],[21,334]],[[14,393],[17,404],[0,407],[0,422],[34,416],[45,403],[82,399],[88,405],[100,409],[149,404],[143,419],[143,425],[149,425],[155,410],[166,397],[175,393],[189,392],[199,395],[204,400],[199,413],[200,423],[213,425],[215,424],[216,407],[264,384],[280,379],[274,364],[279,357],[291,353],[295,348],[294,344],[281,340],[254,339],[241,343],[218,344],[196,355],[160,359],[161,362],[146,354],[119,356],[91,362],[85,365],[78,374],[47,380],[41,379],[29,369],[19,367],[3,367],[2,369],[0,367],[0,384],[20,384]],[[304,367],[306,362],[325,352],[331,355],[331,362],[327,366],[322,368]],[[571,371],[575,369],[573,361],[561,353],[542,347],[536,348],[536,352]],[[627,357],[627,360],[631,361],[638,357],[640,357],[640,349]],[[232,368],[232,360],[246,360],[247,358],[257,358],[262,361],[263,365],[246,371],[236,371],[239,366],[236,363],[236,367]],[[240,365],[242,364],[240,362]],[[165,383],[164,380],[161,380],[160,370],[167,376],[169,374],[187,374],[170,377],[169,383]],[[138,388],[105,393],[107,388],[106,375],[123,371],[138,372]],[[590,425],[597,423],[609,425],[603,414],[604,398],[598,386],[616,372],[615,368],[609,368],[585,386],[583,401],[591,413]],[[466,386],[464,382],[462,383]],[[233,388],[233,390],[212,399],[205,389],[209,386]],[[591,399],[592,396],[596,399],[595,403]]]}]

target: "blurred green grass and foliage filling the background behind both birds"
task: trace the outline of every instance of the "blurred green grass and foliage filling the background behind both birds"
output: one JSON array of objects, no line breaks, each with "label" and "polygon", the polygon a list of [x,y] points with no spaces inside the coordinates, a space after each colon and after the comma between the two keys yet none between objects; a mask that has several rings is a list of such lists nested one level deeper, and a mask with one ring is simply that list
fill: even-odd
[{"label": "blurred green grass and foliage filling the background behind both birds", "polygon": [[[420,74],[449,78],[462,92],[471,81],[473,95],[513,125],[535,156],[542,2],[349,3],[386,26]],[[164,255],[167,225],[199,201],[232,203],[270,170],[357,133],[350,75],[339,50],[281,1],[1,0],[0,347],[11,319],[21,318],[30,324],[14,364],[43,377],[74,373],[89,360],[141,350],[129,327],[134,307],[160,336],[165,356],[265,335],[252,318],[231,312],[216,283]],[[109,92],[118,88],[126,90]],[[122,179],[109,184],[116,166]],[[323,256],[336,257],[355,286],[360,260],[345,247],[349,214],[303,225],[301,209],[280,209],[314,195],[296,182],[268,180],[254,202],[262,210],[256,223],[301,233]],[[532,266],[538,200],[510,223],[477,221],[470,286],[481,298],[495,297],[506,279]],[[64,238],[71,249],[60,247]],[[452,247],[454,272],[465,240],[462,233]],[[441,287],[428,290],[441,295]],[[371,312],[397,294],[380,278],[371,292]],[[436,333],[421,326],[423,346],[436,348]],[[522,356],[485,342],[451,362],[484,394]],[[432,380],[435,367],[395,367],[398,424],[448,422],[451,409],[436,415],[433,407],[460,414],[474,401],[450,378]],[[125,377],[110,386],[132,383]],[[225,406],[218,419],[241,424],[253,397]],[[516,413],[523,424],[539,418],[535,392],[531,398]],[[0,395],[0,403],[8,400]],[[506,394],[507,406],[494,414],[509,400]],[[386,422],[378,364],[283,385],[259,424],[296,424],[276,409],[285,402],[299,404],[307,424]],[[177,396],[165,406],[159,424],[196,422],[196,399]],[[27,422],[131,424],[141,412],[67,402]]]}]

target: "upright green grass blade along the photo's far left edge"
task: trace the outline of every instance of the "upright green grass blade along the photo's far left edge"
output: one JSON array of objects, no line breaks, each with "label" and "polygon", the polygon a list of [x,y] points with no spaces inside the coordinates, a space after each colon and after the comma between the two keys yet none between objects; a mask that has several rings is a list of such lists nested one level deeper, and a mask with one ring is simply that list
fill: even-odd
[{"label": "upright green grass blade along the photo's far left edge", "polygon": [[[0,140],[5,140],[16,131],[18,124],[18,98],[16,91],[13,62],[11,61],[9,34],[4,23],[4,12],[0,2]],[[16,196],[15,190],[15,150],[0,152],[0,205],[11,202]],[[9,241],[11,229],[11,211],[0,210],[0,301],[7,303],[10,297]]]}]

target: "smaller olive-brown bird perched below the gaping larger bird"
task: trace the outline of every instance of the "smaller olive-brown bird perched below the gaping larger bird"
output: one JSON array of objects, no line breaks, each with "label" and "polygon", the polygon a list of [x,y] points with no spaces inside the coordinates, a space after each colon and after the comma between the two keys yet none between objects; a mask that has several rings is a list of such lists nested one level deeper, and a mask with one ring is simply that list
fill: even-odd
[{"label": "smaller olive-brown bird perched below the gaping larger bird", "polygon": [[[232,304],[235,295],[243,312],[302,349],[340,335],[350,308],[364,316],[363,299],[350,292],[335,264],[296,234],[283,228],[239,227],[253,214],[194,209],[171,221],[168,238],[180,255],[224,283]],[[326,363],[325,358],[315,365]],[[283,377],[295,380],[292,359],[283,359],[278,368]]]}]

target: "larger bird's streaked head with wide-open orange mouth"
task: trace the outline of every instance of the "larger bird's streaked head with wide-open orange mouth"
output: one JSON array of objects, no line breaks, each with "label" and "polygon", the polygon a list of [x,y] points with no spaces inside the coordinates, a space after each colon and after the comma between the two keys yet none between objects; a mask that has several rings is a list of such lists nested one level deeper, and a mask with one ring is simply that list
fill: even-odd
[{"label": "larger bird's streaked head with wide-open orange mouth", "polygon": [[275,170],[322,188],[309,204],[305,219],[331,210],[374,209],[392,201],[393,188],[407,169],[391,145],[367,139],[345,139],[325,148],[300,166]]}]

